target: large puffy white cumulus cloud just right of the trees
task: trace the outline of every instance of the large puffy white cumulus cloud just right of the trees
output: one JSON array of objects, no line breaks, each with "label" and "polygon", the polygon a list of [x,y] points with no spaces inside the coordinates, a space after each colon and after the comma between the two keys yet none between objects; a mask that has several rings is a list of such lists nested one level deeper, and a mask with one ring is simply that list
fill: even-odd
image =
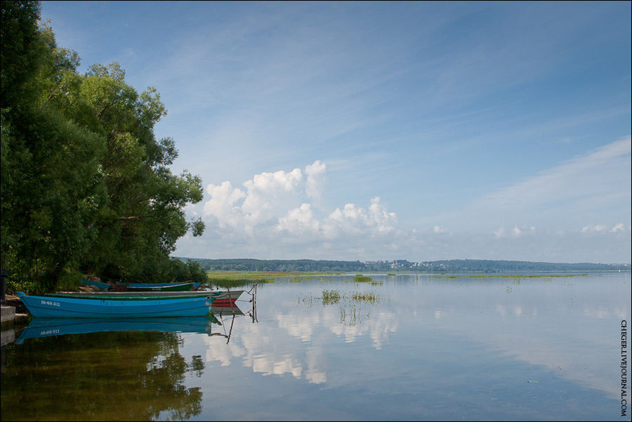
[{"label": "large puffy white cumulus cloud just right of the trees", "polygon": [[[243,187],[230,181],[208,185],[204,204],[207,223],[222,234],[242,234],[262,244],[283,235],[283,242],[330,242],[345,236],[357,239],[392,235],[397,216],[380,197],[369,206],[353,203],[327,211],[314,202],[326,196],[327,165],[320,160],[292,171],[264,172]],[[217,233],[217,232],[216,232]]]}]

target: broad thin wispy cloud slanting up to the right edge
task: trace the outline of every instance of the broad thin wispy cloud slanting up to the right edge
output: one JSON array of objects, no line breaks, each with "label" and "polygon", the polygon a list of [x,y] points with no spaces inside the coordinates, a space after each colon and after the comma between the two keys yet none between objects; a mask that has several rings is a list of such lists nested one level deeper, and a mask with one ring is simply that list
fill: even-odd
[{"label": "broad thin wispy cloud slanting up to the right edge", "polygon": [[621,223],[622,212],[629,218],[631,167],[631,137],[626,136],[425,220],[470,232],[499,230],[499,225],[521,232],[532,225],[580,230],[595,225],[595,219],[612,228]]}]

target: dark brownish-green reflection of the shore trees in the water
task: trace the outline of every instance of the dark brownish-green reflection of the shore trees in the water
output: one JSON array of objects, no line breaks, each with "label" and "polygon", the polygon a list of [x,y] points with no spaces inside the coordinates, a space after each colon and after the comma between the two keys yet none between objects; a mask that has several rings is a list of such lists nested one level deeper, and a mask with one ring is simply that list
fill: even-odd
[{"label": "dark brownish-green reflection of the shore trees in the water", "polygon": [[[202,357],[180,355],[176,333],[104,331],[32,338],[6,350],[1,418],[12,420],[185,420],[202,411],[202,390],[186,388]],[[15,343],[6,348],[18,347]],[[18,360],[16,357],[20,357]]]}]

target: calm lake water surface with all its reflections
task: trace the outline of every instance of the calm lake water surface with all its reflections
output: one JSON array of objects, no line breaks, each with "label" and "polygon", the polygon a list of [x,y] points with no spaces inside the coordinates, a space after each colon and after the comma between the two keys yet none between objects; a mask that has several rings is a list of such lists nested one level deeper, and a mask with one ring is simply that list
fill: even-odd
[{"label": "calm lake water surface with all its reflections", "polygon": [[211,321],[34,319],[3,349],[1,419],[630,420],[629,273],[371,277],[260,283]]}]

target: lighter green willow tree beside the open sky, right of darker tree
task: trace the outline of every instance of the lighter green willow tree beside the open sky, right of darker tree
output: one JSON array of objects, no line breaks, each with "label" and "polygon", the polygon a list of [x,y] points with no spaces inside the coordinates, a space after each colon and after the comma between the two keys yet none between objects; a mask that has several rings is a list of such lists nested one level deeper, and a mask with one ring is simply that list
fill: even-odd
[{"label": "lighter green willow tree beside the open sky, right of darker tree", "polygon": [[107,150],[102,160],[107,206],[94,224],[99,237],[84,263],[100,274],[139,277],[147,261],[169,256],[176,240],[204,224],[187,221],[183,207],[202,200],[202,181],[169,166],[178,155],[171,138],[157,140],[154,125],[166,110],[154,88],[138,93],[117,63],[93,65],[81,84],[92,105]]}]

